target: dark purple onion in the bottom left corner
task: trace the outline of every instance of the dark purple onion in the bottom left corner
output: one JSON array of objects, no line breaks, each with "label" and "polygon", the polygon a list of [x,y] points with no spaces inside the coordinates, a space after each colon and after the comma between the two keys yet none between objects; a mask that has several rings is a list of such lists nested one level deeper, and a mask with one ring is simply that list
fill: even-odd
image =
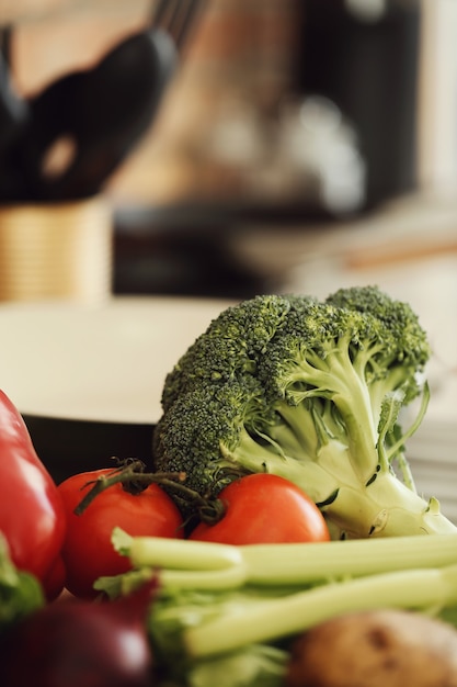
[{"label": "dark purple onion in the bottom left corner", "polygon": [[0,685],[150,687],[156,588],[153,579],[112,601],[65,598],[27,616],[0,638]]}]

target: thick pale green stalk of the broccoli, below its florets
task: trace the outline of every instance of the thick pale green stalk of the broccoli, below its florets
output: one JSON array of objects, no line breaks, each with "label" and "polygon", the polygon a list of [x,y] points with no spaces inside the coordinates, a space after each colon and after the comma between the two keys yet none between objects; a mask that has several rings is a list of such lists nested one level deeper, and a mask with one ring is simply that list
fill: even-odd
[{"label": "thick pale green stalk of the broccoli, below its florets", "polygon": [[[290,416],[294,409],[290,407]],[[426,502],[403,484],[390,469],[372,455],[372,474],[367,483],[353,471],[349,448],[338,440],[322,444],[317,462],[306,454],[302,460],[259,447],[244,430],[235,454],[221,448],[227,465],[239,464],[252,472],[267,472],[300,487],[318,504],[339,536],[357,539],[400,537],[457,531],[441,511],[436,499]]]}]

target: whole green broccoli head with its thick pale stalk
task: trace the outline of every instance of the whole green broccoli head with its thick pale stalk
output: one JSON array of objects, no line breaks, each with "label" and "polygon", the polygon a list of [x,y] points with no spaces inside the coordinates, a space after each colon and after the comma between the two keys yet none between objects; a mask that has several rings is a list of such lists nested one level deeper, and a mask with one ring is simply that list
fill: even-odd
[{"label": "whole green broccoli head with its thick pale stalk", "polygon": [[411,307],[377,286],[342,289],[322,302],[243,301],[214,319],[168,374],[156,469],[185,472],[208,498],[236,475],[281,475],[311,496],[334,537],[453,531],[437,502],[415,493],[398,419],[415,397],[426,401],[430,354]]}]

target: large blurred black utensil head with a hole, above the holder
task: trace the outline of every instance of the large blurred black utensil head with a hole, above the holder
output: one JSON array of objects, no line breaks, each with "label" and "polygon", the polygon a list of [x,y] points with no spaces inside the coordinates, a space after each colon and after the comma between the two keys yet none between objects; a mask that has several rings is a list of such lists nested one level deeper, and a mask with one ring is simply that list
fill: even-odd
[{"label": "large blurred black utensil head with a hole, above the holder", "polygon": [[28,200],[98,193],[150,125],[175,63],[170,36],[142,32],[31,100],[20,146]]}]

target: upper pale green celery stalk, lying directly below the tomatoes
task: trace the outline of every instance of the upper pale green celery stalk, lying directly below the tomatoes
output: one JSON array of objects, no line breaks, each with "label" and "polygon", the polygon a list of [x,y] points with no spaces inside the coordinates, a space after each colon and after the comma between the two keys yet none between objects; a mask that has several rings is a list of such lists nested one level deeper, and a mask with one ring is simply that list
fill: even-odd
[{"label": "upper pale green celery stalk, lying directly below the tomatoes", "polygon": [[117,551],[129,556],[134,567],[160,568],[164,584],[182,588],[306,585],[457,563],[457,533],[232,547],[132,538],[116,528],[113,543]]}]

